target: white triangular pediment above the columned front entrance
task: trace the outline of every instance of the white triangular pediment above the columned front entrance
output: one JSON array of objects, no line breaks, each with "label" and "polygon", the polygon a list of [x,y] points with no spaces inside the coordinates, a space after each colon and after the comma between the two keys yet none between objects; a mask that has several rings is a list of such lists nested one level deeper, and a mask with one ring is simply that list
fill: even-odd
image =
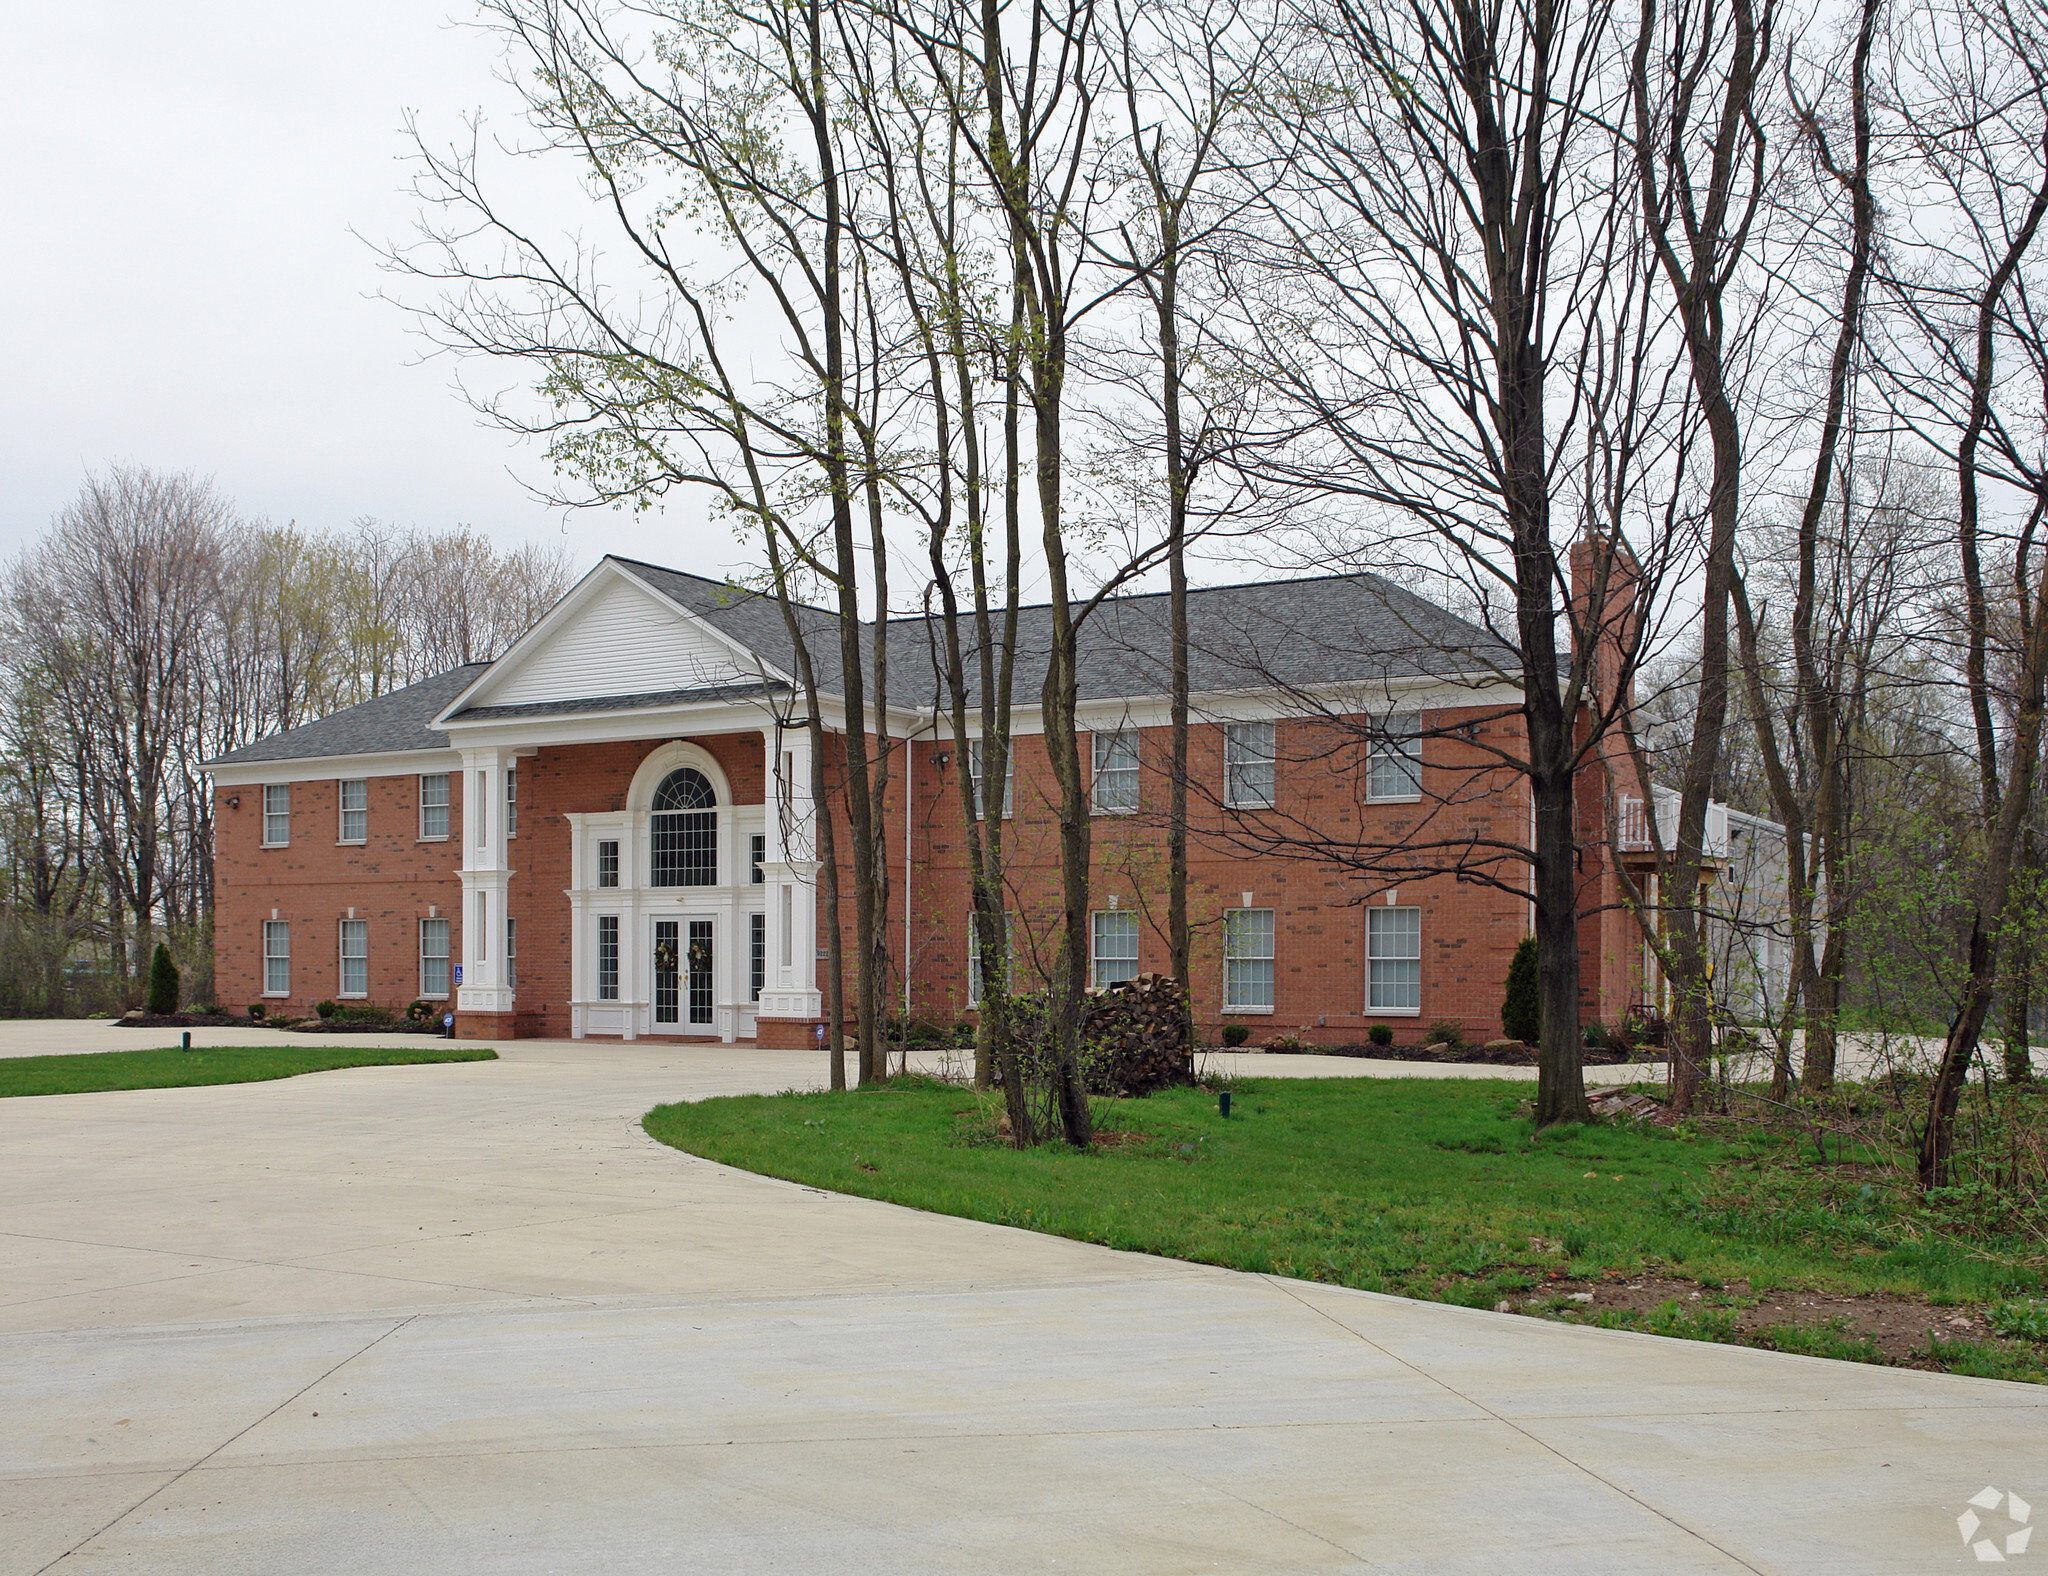
[{"label": "white triangular pediment above the columned front entrance", "polygon": [[451,712],[758,684],[762,671],[745,647],[606,561]]}]

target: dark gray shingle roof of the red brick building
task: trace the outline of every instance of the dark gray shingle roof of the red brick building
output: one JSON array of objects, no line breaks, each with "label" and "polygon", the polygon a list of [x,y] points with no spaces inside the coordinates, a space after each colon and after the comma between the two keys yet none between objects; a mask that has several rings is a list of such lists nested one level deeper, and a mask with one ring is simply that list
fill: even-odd
[{"label": "dark gray shingle roof of the red brick building", "polygon": [[[797,659],[782,610],[772,596],[688,575],[680,569],[618,559],[627,573],[668,596],[764,661],[795,675]],[[817,684],[840,690],[840,641],[834,614],[799,606]],[[1169,602],[1163,592],[1104,602],[1081,626],[1081,700],[1163,696],[1171,684],[1167,645]],[[891,700],[930,704],[940,696],[930,618],[889,620]],[[862,626],[862,647],[872,624]],[[1020,700],[1038,694],[1053,645],[1053,610],[1024,608],[1018,616]],[[1374,684],[1427,673],[1516,671],[1513,651],[1497,637],[1380,575],[1272,579],[1257,585],[1212,585],[1188,594],[1188,663],[1196,694],[1321,684]],[[487,663],[436,673],[301,729],[260,739],[219,757],[219,765],[291,761],[324,755],[385,755],[446,749],[446,735],[426,725],[438,716]],[[664,690],[657,694],[590,696],[518,706],[469,706],[463,720],[567,716],[651,706],[680,706],[731,696],[758,696],[758,684]]]}]

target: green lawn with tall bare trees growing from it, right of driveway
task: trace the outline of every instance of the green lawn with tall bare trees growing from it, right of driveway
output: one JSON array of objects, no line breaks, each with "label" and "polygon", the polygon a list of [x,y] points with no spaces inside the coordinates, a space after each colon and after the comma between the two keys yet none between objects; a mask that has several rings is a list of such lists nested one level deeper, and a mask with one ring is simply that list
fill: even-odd
[{"label": "green lawn with tall bare trees growing from it, right of driveway", "polygon": [[[842,1193],[1483,1308],[1606,1271],[1942,1304],[2042,1285],[2023,1246],[1958,1244],[1858,1183],[1853,1154],[1823,1169],[1761,1136],[1538,1134],[1528,1097],[1524,1083],[1477,1079],[1257,1081],[1237,1085],[1223,1120],[1212,1093],[1171,1091],[1100,1103],[1128,1138],[1090,1154],[1016,1152],[995,1142],[987,1097],[918,1079],[662,1105],[645,1126],[692,1154]],[[1677,1312],[1688,1318],[1636,1324],[1733,1339]],[[1995,1367],[2032,1377],[2036,1357],[2021,1345]]]}]

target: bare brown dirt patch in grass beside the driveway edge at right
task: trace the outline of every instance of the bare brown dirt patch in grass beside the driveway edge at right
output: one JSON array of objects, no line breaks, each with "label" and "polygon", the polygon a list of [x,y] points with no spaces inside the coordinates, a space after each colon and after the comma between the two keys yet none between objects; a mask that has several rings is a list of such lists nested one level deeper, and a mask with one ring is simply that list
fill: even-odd
[{"label": "bare brown dirt patch in grass beside the driveway edge at right", "polygon": [[[1755,1292],[1747,1281],[1706,1285],[1671,1275],[1618,1271],[1593,1279],[1552,1273],[1534,1292],[1507,1298],[1497,1308],[1573,1324],[1665,1328],[1673,1334],[1724,1326],[1722,1339],[1733,1337],[1745,1347],[1860,1355],[1866,1361],[1923,1369],[1946,1367],[1931,1355],[1929,1337],[2003,1345],[1982,1308],[1946,1308],[1896,1292]],[[1849,1351],[1858,1345],[1864,1349]]]}]

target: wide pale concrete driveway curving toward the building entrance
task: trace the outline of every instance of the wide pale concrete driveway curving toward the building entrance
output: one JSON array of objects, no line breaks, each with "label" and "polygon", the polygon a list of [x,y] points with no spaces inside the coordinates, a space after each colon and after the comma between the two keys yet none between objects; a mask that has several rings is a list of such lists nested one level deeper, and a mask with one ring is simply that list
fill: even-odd
[{"label": "wide pale concrete driveway curving toward the building entrance", "polygon": [[2048,1390],[1118,1255],[637,1126],[819,1072],[522,1042],[0,1101],[0,1572],[1864,1576],[1974,1566],[1987,1486],[2048,1517]]}]

